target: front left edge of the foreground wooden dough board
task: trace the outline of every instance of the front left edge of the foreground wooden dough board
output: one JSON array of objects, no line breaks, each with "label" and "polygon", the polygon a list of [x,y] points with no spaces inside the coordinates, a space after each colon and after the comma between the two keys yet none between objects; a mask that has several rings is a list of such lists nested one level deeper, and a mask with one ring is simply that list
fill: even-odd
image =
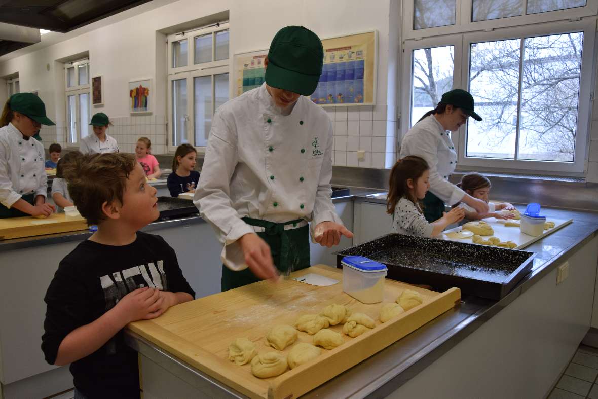
[{"label": "front left edge of the foreground wooden dough board", "polygon": [[[238,375],[236,375],[237,380],[230,379],[228,376],[228,364],[227,367],[222,366],[220,358],[200,346],[181,339],[181,337],[176,336],[151,320],[133,322],[127,325],[127,328],[158,346],[158,348],[166,350],[192,367],[197,368],[197,370],[202,371],[202,373],[208,374],[210,377],[230,386],[230,388],[235,389],[243,395],[254,399],[267,397],[268,385],[265,380],[260,380],[253,376],[239,380]],[[176,348],[170,345],[169,342],[171,340],[177,342],[178,346]],[[189,356],[188,353],[193,353],[194,357]]]}]

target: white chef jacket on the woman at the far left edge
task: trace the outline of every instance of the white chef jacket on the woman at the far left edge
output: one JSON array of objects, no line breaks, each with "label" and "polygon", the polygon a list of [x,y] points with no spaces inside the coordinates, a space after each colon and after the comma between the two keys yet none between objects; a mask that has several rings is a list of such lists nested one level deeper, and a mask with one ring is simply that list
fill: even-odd
[{"label": "white chef jacket on the woman at the far left edge", "polygon": [[26,140],[12,123],[0,127],[0,203],[10,208],[25,194],[46,196],[44,146]]}]

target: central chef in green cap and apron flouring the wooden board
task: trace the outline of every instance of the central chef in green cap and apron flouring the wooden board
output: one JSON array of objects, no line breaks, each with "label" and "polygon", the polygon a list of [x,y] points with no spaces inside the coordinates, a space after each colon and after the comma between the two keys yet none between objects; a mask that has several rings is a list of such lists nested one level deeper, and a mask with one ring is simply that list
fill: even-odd
[{"label": "central chef in green cap and apron flouring the wooden board", "polygon": [[328,247],[353,236],[331,201],[331,121],[304,97],[323,57],[315,33],[281,29],[264,61],[266,83],[213,117],[194,203],[224,243],[223,291],[309,267],[310,233]]}]

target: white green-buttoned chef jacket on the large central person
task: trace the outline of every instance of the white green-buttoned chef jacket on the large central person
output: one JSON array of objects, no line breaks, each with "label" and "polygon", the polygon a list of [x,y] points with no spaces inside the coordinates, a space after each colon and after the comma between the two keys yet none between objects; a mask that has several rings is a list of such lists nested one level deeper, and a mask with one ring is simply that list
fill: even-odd
[{"label": "white green-buttoned chef jacket on the large central person", "polygon": [[331,178],[327,112],[301,96],[285,116],[262,84],[216,111],[193,202],[224,243],[222,262],[243,270],[237,239],[260,230],[242,217],[304,218],[312,222],[312,236],[322,221],[342,224],[330,198]]}]

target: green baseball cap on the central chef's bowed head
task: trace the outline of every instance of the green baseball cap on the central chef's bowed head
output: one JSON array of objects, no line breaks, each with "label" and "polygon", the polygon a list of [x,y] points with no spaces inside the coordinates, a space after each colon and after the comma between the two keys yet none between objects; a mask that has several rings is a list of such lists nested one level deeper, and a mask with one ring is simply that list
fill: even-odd
[{"label": "green baseball cap on the central chef's bowed head", "polygon": [[303,26],[280,29],[270,44],[266,83],[303,96],[311,95],[322,74],[322,41]]}]

